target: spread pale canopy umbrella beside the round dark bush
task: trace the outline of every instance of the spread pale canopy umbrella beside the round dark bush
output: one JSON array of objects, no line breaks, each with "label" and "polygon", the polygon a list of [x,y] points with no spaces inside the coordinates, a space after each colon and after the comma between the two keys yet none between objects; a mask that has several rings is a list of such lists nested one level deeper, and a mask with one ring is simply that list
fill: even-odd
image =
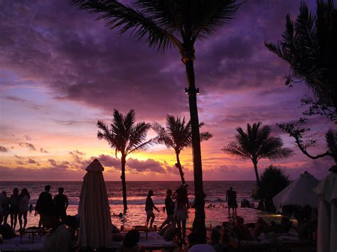
[{"label": "spread pale canopy umbrella beside the round dark bush", "polygon": [[318,184],[319,180],[309,172],[304,172],[273,197],[274,206],[280,210],[287,205],[305,207],[308,204],[311,208],[317,209],[317,195],[314,193],[314,188]]}]

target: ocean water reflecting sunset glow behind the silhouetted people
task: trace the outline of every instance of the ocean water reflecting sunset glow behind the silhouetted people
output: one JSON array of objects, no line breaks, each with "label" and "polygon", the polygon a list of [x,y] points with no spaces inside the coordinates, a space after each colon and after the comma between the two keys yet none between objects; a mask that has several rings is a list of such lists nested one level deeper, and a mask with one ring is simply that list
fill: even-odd
[{"label": "ocean water reflecting sunset glow behind the silhouetted people", "polygon": [[[237,192],[237,202],[240,205],[242,199],[248,199],[252,202],[251,194],[255,187],[255,181],[205,181],[203,183],[204,192],[206,195],[205,199],[205,215],[206,224],[210,226],[216,226],[220,224],[221,221],[227,221],[228,209],[220,208],[220,204],[225,204],[225,194],[229,187],[233,187]],[[107,186],[107,195],[109,197],[110,213],[112,215],[112,223],[116,226],[124,225],[125,227],[131,228],[134,225],[142,225],[145,223],[146,214],[144,211],[145,199],[147,192],[149,190],[154,191],[154,204],[161,210],[161,212],[156,214],[156,219],[154,224],[160,226],[162,221],[166,217],[166,213],[162,211],[164,207],[164,200],[166,197],[166,190],[176,190],[176,188],[181,185],[181,182],[172,181],[156,181],[156,182],[127,182],[127,202],[128,210],[124,217],[116,217],[114,214],[119,214],[123,212],[122,206],[122,182],[105,182]],[[50,193],[54,196],[58,193],[58,187],[64,187],[65,195],[69,199],[69,207],[67,213],[70,215],[77,214],[77,207],[79,203],[80,190],[82,186],[82,181],[78,182],[0,182],[0,190],[6,191],[7,195],[11,195],[14,187],[18,187],[21,192],[22,188],[27,188],[31,195],[31,203],[33,206],[36,204],[38,195],[43,192],[45,185],[50,185]],[[188,182],[188,199],[193,202],[193,182]],[[208,209],[208,204],[215,204],[215,208]],[[256,204],[256,203],[255,203]],[[258,216],[263,213],[258,212],[255,209],[237,209],[237,214],[244,217],[246,222],[254,222]],[[194,209],[189,210],[188,226],[191,226],[194,217]],[[37,226],[38,216],[34,216],[34,211],[28,213],[28,225],[27,226]],[[18,226],[16,226],[18,229]]]}]

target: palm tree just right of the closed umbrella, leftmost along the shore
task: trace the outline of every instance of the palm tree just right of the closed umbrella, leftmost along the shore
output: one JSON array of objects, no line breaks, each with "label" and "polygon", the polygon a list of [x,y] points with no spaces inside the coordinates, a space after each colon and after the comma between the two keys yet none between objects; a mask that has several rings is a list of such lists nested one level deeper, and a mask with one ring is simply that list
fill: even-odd
[{"label": "palm tree just right of the closed umbrella, leftmost along the shore", "polygon": [[126,211],[127,184],[125,182],[125,164],[127,163],[127,155],[139,150],[146,150],[151,145],[153,139],[146,141],[147,131],[151,128],[151,124],[146,124],[144,121],[135,124],[133,109],[125,116],[119,113],[117,109],[114,109],[114,119],[112,119],[110,127],[102,121],[97,122],[97,127],[101,130],[97,132],[97,138],[106,140],[109,146],[114,148],[116,158],[117,153],[121,154],[123,204],[124,211]]}]

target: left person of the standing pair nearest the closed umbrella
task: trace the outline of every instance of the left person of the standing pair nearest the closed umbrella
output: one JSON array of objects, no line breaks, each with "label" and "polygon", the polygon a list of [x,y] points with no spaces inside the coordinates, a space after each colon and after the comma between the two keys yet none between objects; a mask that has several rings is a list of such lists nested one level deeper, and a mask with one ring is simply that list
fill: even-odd
[{"label": "left person of the standing pair nearest the closed umbrella", "polygon": [[45,191],[41,192],[38,197],[38,201],[36,202],[36,211],[40,214],[40,221],[38,223],[38,227],[41,227],[43,224],[43,219],[46,217],[53,216],[55,214],[53,197],[49,193],[50,185],[46,185]]}]

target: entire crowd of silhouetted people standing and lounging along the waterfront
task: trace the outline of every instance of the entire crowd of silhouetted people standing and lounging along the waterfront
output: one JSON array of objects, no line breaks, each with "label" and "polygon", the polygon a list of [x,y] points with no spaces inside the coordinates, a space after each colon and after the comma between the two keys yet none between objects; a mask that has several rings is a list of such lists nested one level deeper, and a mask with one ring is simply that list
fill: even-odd
[{"label": "entire crowd of silhouetted people standing and lounging along the waterfront", "polygon": [[[64,194],[63,187],[58,188],[58,194],[54,197],[50,194],[50,185],[46,185],[44,192],[38,197],[36,201],[35,214],[40,216],[38,224],[39,228],[52,229],[52,232],[46,237],[43,245],[43,251],[50,251],[55,246],[60,246],[58,251],[63,251],[65,248],[75,246],[75,229],[78,228],[78,221],[76,217],[67,216],[68,197]],[[145,202],[146,212],[146,227],[154,228],[154,219],[156,218],[154,210],[159,212],[159,208],[155,206],[152,197],[154,191],[149,190]],[[282,234],[289,231],[292,222],[287,217],[282,217],[281,223],[276,224],[273,221],[269,224],[264,219],[257,219],[256,224],[252,227],[245,224],[242,217],[236,216],[237,208],[237,192],[232,187],[226,192],[226,201],[228,202],[228,214],[232,209],[232,214],[235,214],[235,226],[232,229],[232,234],[238,239],[248,241],[258,241],[260,234],[274,232]],[[26,229],[27,214],[32,212],[33,206],[30,204],[31,196],[26,188],[19,193],[18,188],[14,188],[13,194],[9,197],[6,192],[0,195],[0,225],[7,224],[8,218],[11,219],[11,228],[16,229],[17,221],[20,229]],[[179,246],[188,246],[188,251],[225,251],[223,243],[220,242],[220,231],[213,229],[210,234],[210,243],[202,244],[197,234],[191,233],[186,239],[186,221],[188,219],[188,209],[190,208],[188,202],[188,186],[181,185],[175,192],[171,189],[166,191],[165,207],[163,212],[166,212],[166,219],[159,227],[159,234],[164,234],[166,231],[171,233],[171,239],[177,237]],[[210,204],[208,208],[213,208],[215,205]],[[221,208],[221,207],[220,207]],[[300,217],[305,221],[311,219],[306,217],[308,211],[304,208],[299,212]],[[113,214],[112,216],[123,217],[123,214]],[[300,218],[297,218],[300,219]],[[299,221],[300,222],[300,221]],[[118,229],[117,229],[118,231]],[[60,242],[60,241],[67,241]],[[68,242],[69,241],[69,242]],[[124,238],[124,251],[129,251],[128,248],[137,247],[139,241],[139,231],[132,230],[127,233]]]}]

